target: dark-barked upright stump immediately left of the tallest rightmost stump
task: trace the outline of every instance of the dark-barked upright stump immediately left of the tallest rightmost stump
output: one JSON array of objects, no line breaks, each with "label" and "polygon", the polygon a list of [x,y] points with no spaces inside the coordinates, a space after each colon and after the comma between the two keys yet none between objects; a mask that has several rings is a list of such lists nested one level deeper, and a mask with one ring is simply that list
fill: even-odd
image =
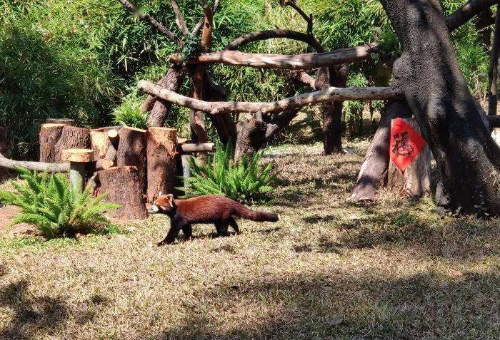
[{"label": "dark-barked upright stump immediately left of the tallest rightmost stump", "polygon": [[134,166],[139,172],[141,193],[146,188],[146,130],[124,126],[119,131],[116,165]]}]

